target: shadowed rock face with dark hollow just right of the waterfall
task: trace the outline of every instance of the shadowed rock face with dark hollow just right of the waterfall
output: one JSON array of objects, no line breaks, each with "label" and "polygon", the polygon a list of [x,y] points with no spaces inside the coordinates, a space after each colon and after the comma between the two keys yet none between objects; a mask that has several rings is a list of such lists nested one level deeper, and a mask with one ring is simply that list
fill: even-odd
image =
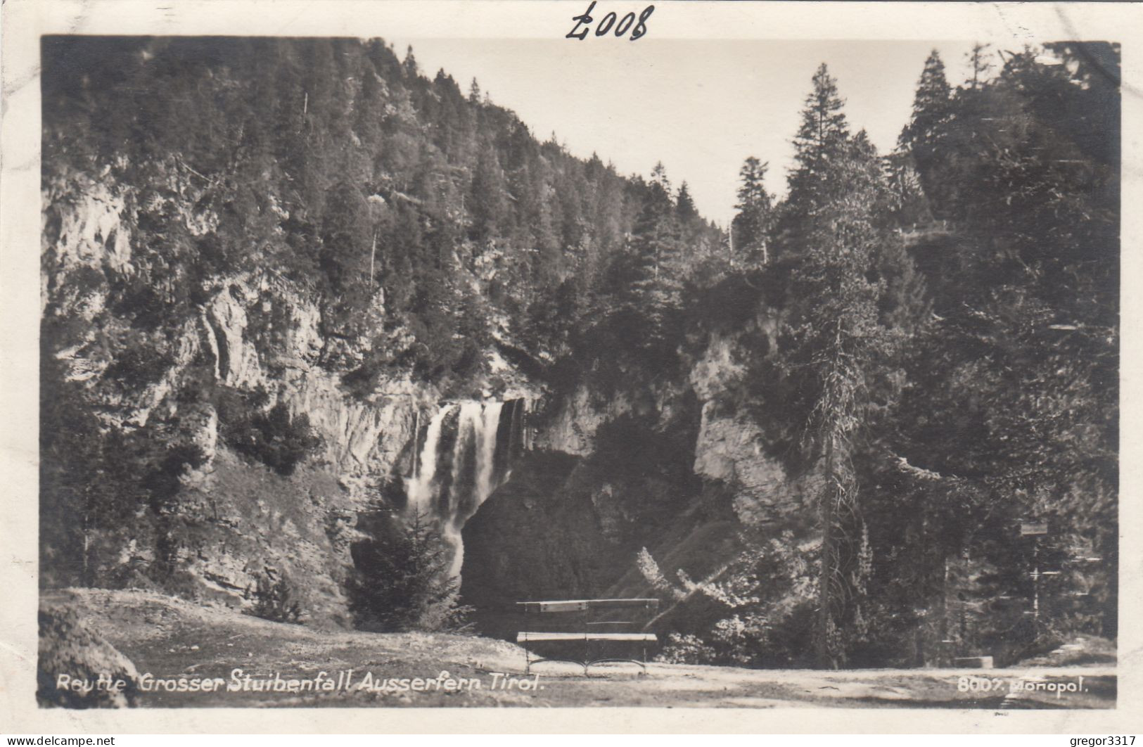
[{"label": "shadowed rock face with dark hollow just right of the waterfall", "polygon": [[[750,329],[775,328],[759,318]],[[661,596],[638,569],[640,549],[671,578],[703,579],[742,549],[745,527],[777,536],[812,511],[817,477],[792,474],[733,407],[751,354],[743,337],[711,332],[686,375],[655,389],[600,401],[581,386],[549,403],[536,435],[546,451],[518,465],[464,529],[462,594],[481,629],[523,629],[521,600]]]}]

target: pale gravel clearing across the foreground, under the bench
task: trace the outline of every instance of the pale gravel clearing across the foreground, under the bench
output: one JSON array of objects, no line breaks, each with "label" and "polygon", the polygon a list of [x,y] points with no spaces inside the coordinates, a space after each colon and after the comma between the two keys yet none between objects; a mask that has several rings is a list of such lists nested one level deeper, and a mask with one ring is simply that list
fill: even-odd
[{"label": "pale gravel clearing across the foreground, under the bench", "polygon": [[[1113,708],[1113,665],[1012,669],[745,669],[542,664],[477,636],[320,630],[147,592],[65,589],[139,674],[139,707],[911,707]],[[42,642],[41,642],[42,645]],[[46,673],[59,684],[61,675]],[[195,685],[195,683],[198,683]],[[94,683],[93,683],[94,684]]]}]

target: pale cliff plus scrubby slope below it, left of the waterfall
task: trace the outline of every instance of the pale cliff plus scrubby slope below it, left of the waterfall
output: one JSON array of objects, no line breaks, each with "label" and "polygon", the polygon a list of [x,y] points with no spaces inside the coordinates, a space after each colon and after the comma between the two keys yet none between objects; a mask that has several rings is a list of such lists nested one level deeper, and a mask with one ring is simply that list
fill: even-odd
[{"label": "pale cliff plus scrubby slope below it, left of the waterfall", "polygon": [[[190,183],[170,186],[161,209],[177,212],[190,235],[217,223],[195,209]],[[179,476],[177,503],[162,507],[158,528],[113,540],[120,546],[97,580],[150,585],[131,569],[162,556],[175,569],[174,591],[250,607],[259,578],[285,575],[306,619],[346,622],[342,583],[360,536],[357,514],[411,473],[417,427],[423,436],[441,392],[410,377],[351,391],[345,372],[371,340],[323,331],[319,299],[272,268],[198,279],[193,313],[153,329],[133,323],[107,307],[110,288],[150,275],[163,292],[179,280],[161,275],[146,248],[135,246],[139,195],[105,174],[66,174],[46,180],[43,200],[42,306],[50,330],[43,354],[83,387],[105,428],[146,428],[202,455]],[[373,304],[379,319],[382,294]],[[131,354],[160,363],[147,369],[149,380],[121,385],[113,366]],[[496,374],[496,394],[530,391],[511,367],[502,363]],[[485,381],[471,388],[493,394]],[[264,393],[264,407],[281,403],[293,418],[306,416],[318,451],[288,476],[240,458],[241,444],[223,437],[216,397],[203,389]]]}]

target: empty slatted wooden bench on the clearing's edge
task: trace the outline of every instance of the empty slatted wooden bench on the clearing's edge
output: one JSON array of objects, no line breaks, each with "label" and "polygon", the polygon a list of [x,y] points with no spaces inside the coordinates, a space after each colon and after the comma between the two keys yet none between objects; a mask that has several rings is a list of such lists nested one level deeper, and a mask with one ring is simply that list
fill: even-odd
[{"label": "empty slatted wooden bench on the clearing's edge", "polygon": [[[582,624],[580,630],[521,630],[515,635],[515,642],[523,648],[525,672],[531,673],[531,665],[541,661],[567,661],[578,664],[583,667],[584,675],[593,664],[626,661],[638,664],[647,672],[647,646],[654,645],[658,638],[654,633],[621,633],[604,629],[607,626],[632,626],[639,625],[637,620],[594,620],[592,615],[605,610],[645,610],[655,611],[658,609],[658,600],[630,599],[630,600],[555,600],[550,602],[517,602],[523,609],[525,615],[546,613],[572,613],[578,615]],[[531,658],[533,651],[529,644],[552,643],[552,642],[583,642],[583,658],[573,659],[567,657],[539,657]],[[641,659],[630,657],[615,657],[605,650],[609,643],[638,644],[642,652]]]}]

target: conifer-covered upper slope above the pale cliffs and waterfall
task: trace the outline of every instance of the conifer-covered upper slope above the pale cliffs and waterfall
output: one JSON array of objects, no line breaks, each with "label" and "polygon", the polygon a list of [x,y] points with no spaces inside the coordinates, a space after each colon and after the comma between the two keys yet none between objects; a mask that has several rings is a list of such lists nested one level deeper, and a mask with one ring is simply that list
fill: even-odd
[{"label": "conifer-covered upper slope above the pale cliffs and waterfall", "polygon": [[[463,380],[497,334],[551,358],[590,292],[625,284],[609,260],[656,196],[541,142],[477,81],[427,78],[381,41],[54,39],[45,51],[45,119],[58,123],[45,163],[131,184],[145,216],[136,259],[153,266],[117,294],[123,308],[159,326],[193,313],[194,283],[273,266],[321,294],[323,334],[375,343],[361,361],[329,356],[362,386],[401,367]],[[217,225],[163,212],[176,178]],[[674,211],[663,231],[708,251],[686,185],[661,199]]]}]

